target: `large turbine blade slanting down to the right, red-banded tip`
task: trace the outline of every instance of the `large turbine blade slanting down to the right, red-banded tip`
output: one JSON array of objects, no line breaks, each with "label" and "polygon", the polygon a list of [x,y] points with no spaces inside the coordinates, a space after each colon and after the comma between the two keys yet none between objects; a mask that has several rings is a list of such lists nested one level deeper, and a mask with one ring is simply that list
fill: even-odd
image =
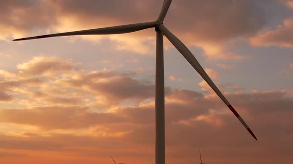
[{"label": "large turbine blade slanting down to the right, red-banded tip", "polygon": [[[169,41],[178,49],[178,51],[185,57],[185,59],[192,65],[192,67],[201,75],[201,77],[212,87],[212,89],[218,94],[220,99],[227,105],[227,107],[233,112],[233,114],[238,118],[238,120],[244,125],[244,127],[248,130],[248,132],[256,139],[253,132],[250,130],[248,125],[243,121],[243,119],[239,116],[239,114],[235,111],[235,109],[231,106],[231,104],[227,101],[224,95],[220,92],[215,83],[208,76],[206,71],[200,65],[200,63],[196,60],[190,50],[177,38],[175,37],[163,24],[159,27],[160,31],[168,38]],[[256,139],[257,140],[257,139]]]}]

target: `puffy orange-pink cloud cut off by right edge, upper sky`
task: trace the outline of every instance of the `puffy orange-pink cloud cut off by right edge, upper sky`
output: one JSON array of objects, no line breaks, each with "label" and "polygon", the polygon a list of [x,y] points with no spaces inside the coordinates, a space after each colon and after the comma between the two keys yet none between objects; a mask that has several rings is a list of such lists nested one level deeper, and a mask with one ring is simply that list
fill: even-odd
[{"label": "puffy orange-pink cloud cut off by right edge, upper sky", "polygon": [[250,38],[254,46],[293,47],[293,19],[286,19],[276,30],[267,30]]}]

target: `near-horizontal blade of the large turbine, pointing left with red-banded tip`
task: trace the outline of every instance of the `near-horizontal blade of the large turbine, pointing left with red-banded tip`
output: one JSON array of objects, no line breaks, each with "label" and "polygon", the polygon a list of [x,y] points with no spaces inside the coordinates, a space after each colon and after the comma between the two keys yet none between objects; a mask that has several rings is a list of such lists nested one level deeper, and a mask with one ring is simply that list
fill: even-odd
[{"label": "near-horizontal blade of the large turbine, pointing left with red-banded tip", "polygon": [[123,34],[123,33],[131,33],[135,31],[140,31],[147,28],[151,28],[151,27],[155,27],[155,22],[136,23],[136,24],[122,25],[122,26],[113,26],[113,27],[105,27],[105,28],[98,28],[98,29],[73,31],[73,32],[67,32],[67,33],[42,35],[42,36],[16,39],[13,41],[23,41],[23,40],[33,40],[33,39],[48,38],[48,37],[73,36],[73,35]]}]

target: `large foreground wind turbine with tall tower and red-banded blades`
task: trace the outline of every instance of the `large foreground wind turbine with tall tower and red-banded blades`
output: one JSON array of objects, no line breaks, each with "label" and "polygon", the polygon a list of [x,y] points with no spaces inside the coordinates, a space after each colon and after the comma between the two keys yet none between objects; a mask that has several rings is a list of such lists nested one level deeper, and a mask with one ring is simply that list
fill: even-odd
[{"label": "large foreground wind turbine with tall tower and red-banded blades", "polygon": [[[155,28],[156,31],[156,64],[155,64],[155,164],[165,164],[165,100],[164,100],[164,58],[163,58],[163,35],[178,49],[183,57],[191,64],[191,66],[200,74],[200,76],[213,88],[220,99],[227,105],[232,113],[244,125],[248,132],[256,139],[248,125],[243,121],[231,104],[220,92],[215,83],[207,75],[203,67],[190,52],[190,50],[175,37],[163,24],[163,20],[169,9],[172,0],[164,0],[158,18],[153,22],[128,24],[122,26],[105,27],[98,29],[73,31],[67,33],[49,34],[28,38],[16,39],[13,41],[32,40],[49,37],[74,36],[74,35],[105,35],[105,34],[122,34],[144,30],[147,28]],[[257,139],[256,139],[257,140]]]}]

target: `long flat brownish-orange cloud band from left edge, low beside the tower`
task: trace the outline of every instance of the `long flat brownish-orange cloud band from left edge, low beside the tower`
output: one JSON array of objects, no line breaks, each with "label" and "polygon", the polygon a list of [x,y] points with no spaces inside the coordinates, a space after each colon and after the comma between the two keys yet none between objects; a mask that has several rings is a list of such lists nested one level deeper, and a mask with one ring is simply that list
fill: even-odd
[{"label": "long flat brownish-orange cloud band from left edge, low beside the tower", "polygon": [[2,109],[0,122],[28,124],[41,129],[85,128],[104,123],[123,123],[124,117],[111,113],[93,113],[83,107],[35,107],[30,109]]}]

